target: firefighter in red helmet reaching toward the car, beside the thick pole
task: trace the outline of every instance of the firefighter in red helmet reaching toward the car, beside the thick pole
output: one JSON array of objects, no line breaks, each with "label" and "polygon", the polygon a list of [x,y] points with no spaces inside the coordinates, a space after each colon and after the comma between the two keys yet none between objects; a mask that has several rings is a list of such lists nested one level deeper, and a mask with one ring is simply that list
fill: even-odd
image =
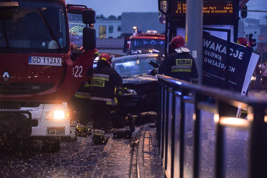
[{"label": "firefighter in red helmet reaching toward the car, beside the thick pole", "polygon": [[149,75],[164,74],[176,79],[198,84],[198,71],[194,58],[186,48],[185,39],[178,35],[170,41],[170,47],[174,50],[162,62],[159,68],[149,70]]}]

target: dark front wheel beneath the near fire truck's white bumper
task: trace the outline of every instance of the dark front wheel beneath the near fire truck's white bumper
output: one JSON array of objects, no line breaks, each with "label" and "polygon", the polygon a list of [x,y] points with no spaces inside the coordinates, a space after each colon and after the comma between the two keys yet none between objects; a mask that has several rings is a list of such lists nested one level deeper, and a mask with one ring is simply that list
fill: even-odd
[{"label": "dark front wheel beneath the near fire truck's white bumper", "polygon": [[60,150],[60,139],[56,137],[43,139],[44,152],[58,152]]}]

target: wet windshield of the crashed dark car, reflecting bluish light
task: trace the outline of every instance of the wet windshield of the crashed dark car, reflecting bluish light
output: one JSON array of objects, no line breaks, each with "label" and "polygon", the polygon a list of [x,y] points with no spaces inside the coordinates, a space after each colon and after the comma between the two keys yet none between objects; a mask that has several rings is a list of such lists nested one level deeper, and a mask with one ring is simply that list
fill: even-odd
[{"label": "wet windshield of the crashed dark car, reflecting bluish light", "polygon": [[121,77],[130,77],[136,75],[147,74],[149,70],[153,70],[149,61],[159,64],[159,58],[161,57],[150,57],[150,58],[138,58],[131,60],[123,60],[119,62],[114,62],[114,69],[118,72]]}]

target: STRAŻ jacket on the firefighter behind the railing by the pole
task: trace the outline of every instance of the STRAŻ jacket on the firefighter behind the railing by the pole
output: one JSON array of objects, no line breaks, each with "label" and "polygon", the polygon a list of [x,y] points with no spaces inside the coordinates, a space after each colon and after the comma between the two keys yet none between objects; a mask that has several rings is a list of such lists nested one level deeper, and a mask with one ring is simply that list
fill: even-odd
[{"label": "STRA\u017b jacket on the firefighter behind the railing by the pole", "polygon": [[150,74],[164,74],[176,79],[198,83],[196,62],[189,52],[170,53],[160,67],[152,70]]}]

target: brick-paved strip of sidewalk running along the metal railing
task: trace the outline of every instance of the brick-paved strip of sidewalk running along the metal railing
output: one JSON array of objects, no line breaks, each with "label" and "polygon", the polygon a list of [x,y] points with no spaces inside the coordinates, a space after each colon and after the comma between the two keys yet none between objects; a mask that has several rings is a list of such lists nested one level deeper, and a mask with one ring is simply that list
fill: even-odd
[{"label": "brick-paved strip of sidewalk running along the metal railing", "polygon": [[149,123],[136,127],[131,139],[114,139],[110,134],[103,150],[104,158],[97,162],[92,178],[163,177],[156,128],[153,126],[154,123]]}]

